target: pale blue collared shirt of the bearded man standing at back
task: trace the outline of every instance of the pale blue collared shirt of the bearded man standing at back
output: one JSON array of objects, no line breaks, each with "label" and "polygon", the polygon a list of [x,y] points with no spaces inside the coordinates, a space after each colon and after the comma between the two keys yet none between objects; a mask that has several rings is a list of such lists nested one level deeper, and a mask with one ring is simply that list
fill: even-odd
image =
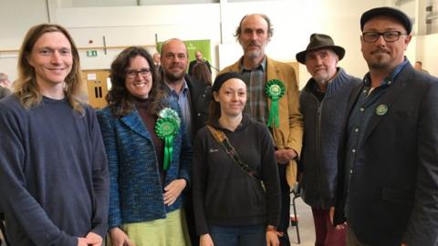
[{"label": "pale blue collared shirt of the bearded man standing at back", "polygon": [[164,83],[166,83],[167,87],[169,87],[170,89],[169,95],[178,102],[181,108],[181,114],[183,116],[183,122],[185,124],[188,136],[192,136],[192,115],[190,112],[189,87],[187,86],[187,82],[185,81],[185,79],[183,80],[183,82],[183,88],[180,94],[178,94],[173,87],[169,86],[169,83],[167,83],[167,81],[164,81]]}]

